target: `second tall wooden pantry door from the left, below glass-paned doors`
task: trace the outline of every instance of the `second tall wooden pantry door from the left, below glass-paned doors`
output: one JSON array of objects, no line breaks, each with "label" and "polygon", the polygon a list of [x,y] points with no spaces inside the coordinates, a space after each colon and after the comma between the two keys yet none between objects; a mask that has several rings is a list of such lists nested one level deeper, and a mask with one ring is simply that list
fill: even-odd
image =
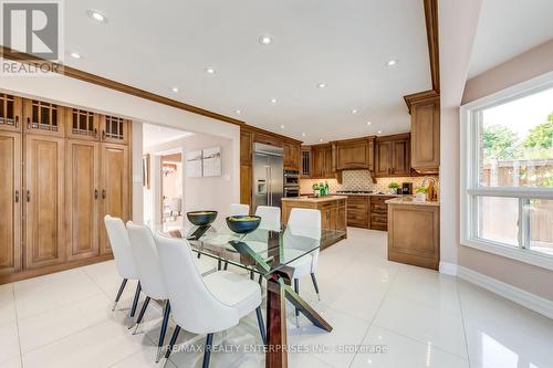
[{"label": "second tall wooden pantry door from the left, below glass-paned doors", "polygon": [[25,137],[25,266],[61,263],[65,259],[63,217],[64,140]]}]

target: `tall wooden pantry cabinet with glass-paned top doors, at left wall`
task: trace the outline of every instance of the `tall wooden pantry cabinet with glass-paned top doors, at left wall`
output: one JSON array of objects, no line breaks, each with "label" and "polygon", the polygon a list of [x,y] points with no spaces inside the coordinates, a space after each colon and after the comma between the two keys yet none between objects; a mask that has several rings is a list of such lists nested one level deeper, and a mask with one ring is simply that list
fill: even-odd
[{"label": "tall wooden pantry cabinet with glass-paned top doors, at left wall", "polygon": [[131,213],[131,122],[0,94],[0,284],[111,257]]}]

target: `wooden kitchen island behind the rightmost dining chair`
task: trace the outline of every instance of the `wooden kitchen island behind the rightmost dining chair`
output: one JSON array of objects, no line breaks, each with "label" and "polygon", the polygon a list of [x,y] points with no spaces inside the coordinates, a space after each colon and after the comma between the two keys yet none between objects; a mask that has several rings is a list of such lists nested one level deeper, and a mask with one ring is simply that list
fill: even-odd
[{"label": "wooden kitchen island behind the rightmost dining chair", "polygon": [[347,197],[291,197],[282,198],[282,222],[288,223],[293,208],[305,208],[321,211],[321,228],[330,230],[321,240],[321,248],[330,246],[347,238]]}]

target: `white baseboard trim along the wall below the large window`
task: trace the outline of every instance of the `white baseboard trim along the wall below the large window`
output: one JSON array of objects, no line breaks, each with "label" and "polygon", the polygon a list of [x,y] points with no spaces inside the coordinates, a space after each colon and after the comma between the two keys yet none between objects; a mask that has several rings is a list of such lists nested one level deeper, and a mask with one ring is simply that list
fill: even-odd
[{"label": "white baseboard trim along the wall below the large window", "polygon": [[457,266],[457,276],[553,319],[553,301],[463,266]]}]

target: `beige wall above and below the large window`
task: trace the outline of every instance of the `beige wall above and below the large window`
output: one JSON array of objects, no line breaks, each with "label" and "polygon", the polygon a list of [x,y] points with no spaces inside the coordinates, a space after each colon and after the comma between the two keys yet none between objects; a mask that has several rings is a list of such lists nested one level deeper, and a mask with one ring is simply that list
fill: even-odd
[{"label": "beige wall above and below the large window", "polygon": [[[462,103],[469,103],[551,71],[553,71],[553,40],[467,81]],[[458,116],[457,114],[457,122],[455,118],[449,119],[449,124],[457,125],[457,132],[459,132]],[[449,139],[449,144],[458,144],[458,135]],[[459,160],[459,156],[457,158]],[[460,266],[553,301],[552,271],[463,245],[459,246],[458,257]]]}]

